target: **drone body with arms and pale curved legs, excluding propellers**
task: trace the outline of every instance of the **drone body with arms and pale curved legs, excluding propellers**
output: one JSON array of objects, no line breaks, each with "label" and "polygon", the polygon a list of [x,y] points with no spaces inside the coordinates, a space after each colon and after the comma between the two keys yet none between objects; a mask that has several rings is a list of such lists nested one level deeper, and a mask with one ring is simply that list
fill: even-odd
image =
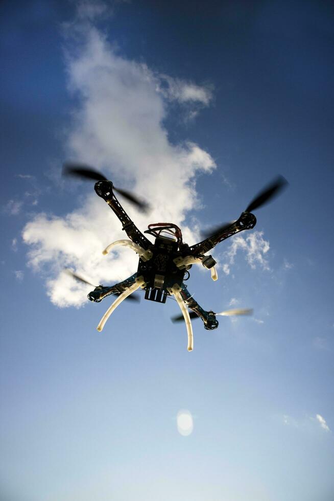
[{"label": "drone body with arms and pale curved legs, excluding propellers", "polygon": [[[113,192],[112,181],[99,180],[95,184],[94,190],[107,202],[110,209],[121,221],[122,229],[130,239],[112,242],[103,250],[103,254],[108,254],[117,245],[123,245],[131,248],[139,256],[138,270],[131,277],[111,287],[100,285],[89,292],[88,299],[93,302],[100,302],[111,294],[119,294],[114,303],[103,315],[97,329],[101,332],[110,314],[117,306],[141,287],[146,290],[145,299],[155,302],[164,303],[168,295],[174,295],[182,311],[187,329],[187,349],[188,351],[192,351],[193,330],[187,308],[193,310],[202,319],[205,329],[216,329],[218,321],[213,311],[204,310],[189,293],[187,286],[183,283],[185,272],[193,264],[202,264],[205,268],[210,269],[211,278],[216,281],[218,279],[217,271],[214,267],[216,261],[214,261],[212,256],[207,256],[206,253],[232,235],[252,229],[256,224],[255,216],[245,211],[236,221],[190,247],[182,241],[181,230],[175,224],[150,224],[149,230],[145,233],[155,236],[156,240],[153,244],[138,230],[137,226],[123,209],[121,203],[117,200]],[[173,229],[175,230],[174,232]],[[176,239],[163,237],[161,236],[162,232],[172,233]],[[154,261],[154,266],[150,263],[151,260]],[[158,272],[155,273],[155,271]]]}]

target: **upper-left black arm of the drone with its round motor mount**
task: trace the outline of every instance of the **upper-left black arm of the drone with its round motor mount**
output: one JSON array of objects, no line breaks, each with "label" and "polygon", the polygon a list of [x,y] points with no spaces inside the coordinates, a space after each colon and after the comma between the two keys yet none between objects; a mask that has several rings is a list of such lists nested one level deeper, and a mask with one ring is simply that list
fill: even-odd
[{"label": "upper-left black arm of the drone with its round motor mount", "polygon": [[111,181],[98,181],[94,186],[94,190],[99,197],[103,198],[107,202],[110,209],[116,214],[118,219],[123,224],[123,230],[128,237],[134,243],[147,250],[150,246],[152,246],[152,242],[150,242],[150,240],[138,230],[137,226],[129,218],[120,202],[115,197],[112,191],[112,186]]}]

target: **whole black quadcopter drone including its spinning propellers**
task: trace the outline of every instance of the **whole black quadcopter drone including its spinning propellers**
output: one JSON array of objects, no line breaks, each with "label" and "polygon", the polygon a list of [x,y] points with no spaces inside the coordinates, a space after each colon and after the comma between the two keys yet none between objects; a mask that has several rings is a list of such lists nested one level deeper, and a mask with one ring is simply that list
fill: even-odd
[{"label": "whole black quadcopter drone including its spinning propellers", "polygon": [[[121,221],[122,229],[127,234],[128,239],[112,242],[103,250],[103,254],[107,255],[111,249],[121,245],[129,247],[139,256],[137,271],[131,277],[112,286],[93,286],[94,290],[88,293],[88,299],[94,303],[99,303],[110,295],[117,296],[103,315],[97,327],[98,331],[102,331],[111,313],[125,299],[135,299],[135,297],[131,297],[131,294],[139,288],[145,290],[146,300],[156,303],[165,303],[166,298],[174,296],[182,313],[174,316],[172,321],[180,322],[184,320],[188,337],[188,351],[192,351],[194,347],[190,319],[199,317],[203,321],[204,328],[212,330],[218,327],[216,318],[218,315],[230,316],[252,313],[251,309],[241,308],[219,313],[212,310],[206,311],[193,298],[184,282],[189,278],[189,269],[195,264],[204,266],[209,270],[212,280],[216,281],[218,279],[215,267],[217,262],[207,253],[218,243],[232,235],[253,229],[256,224],[256,217],[252,214],[252,211],[263,206],[288,185],[288,181],[284,177],[279,176],[258,193],[238,219],[207,230],[202,233],[203,240],[201,242],[189,246],[183,241],[182,232],[174,223],[158,222],[149,224],[148,230],[144,234],[141,233],[123,209],[115,193],[123,196],[143,212],[148,211],[148,203],[129,191],[116,188],[112,181],[97,170],[82,164],[65,163],[63,175],[96,181],[94,185],[95,192],[105,200]],[[146,234],[154,237],[154,243],[146,237]],[[76,280],[92,285],[73,271],[66,271]],[[191,311],[189,312],[188,309]]]}]

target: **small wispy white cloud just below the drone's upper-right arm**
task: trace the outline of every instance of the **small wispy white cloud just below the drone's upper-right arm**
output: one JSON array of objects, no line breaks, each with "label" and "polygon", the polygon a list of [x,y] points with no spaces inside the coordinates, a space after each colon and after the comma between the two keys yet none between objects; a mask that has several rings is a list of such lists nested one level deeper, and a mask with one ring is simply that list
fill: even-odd
[{"label": "small wispy white cloud just below the drone's upper-right arm", "polygon": [[259,265],[264,270],[269,271],[270,267],[265,257],[269,248],[269,242],[263,238],[263,232],[254,231],[247,237],[236,235],[233,237],[229,249],[224,253],[227,263],[223,265],[223,271],[226,275],[229,275],[230,265],[234,263],[234,258],[238,250],[242,250],[246,254],[246,261],[251,268],[256,268],[256,265]]}]

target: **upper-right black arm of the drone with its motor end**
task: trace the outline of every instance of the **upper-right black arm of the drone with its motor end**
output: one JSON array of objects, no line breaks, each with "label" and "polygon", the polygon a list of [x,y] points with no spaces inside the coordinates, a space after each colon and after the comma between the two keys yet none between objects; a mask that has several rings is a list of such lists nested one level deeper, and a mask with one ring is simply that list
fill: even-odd
[{"label": "upper-right black arm of the drone with its motor end", "polygon": [[225,228],[223,232],[213,234],[211,237],[202,240],[202,242],[192,245],[187,250],[187,254],[192,256],[201,256],[211,250],[218,243],[227,238],[240,233],[244,230],[251,230],[256,224],[256,217],[250,212],[243,212],[240,218]]}]

